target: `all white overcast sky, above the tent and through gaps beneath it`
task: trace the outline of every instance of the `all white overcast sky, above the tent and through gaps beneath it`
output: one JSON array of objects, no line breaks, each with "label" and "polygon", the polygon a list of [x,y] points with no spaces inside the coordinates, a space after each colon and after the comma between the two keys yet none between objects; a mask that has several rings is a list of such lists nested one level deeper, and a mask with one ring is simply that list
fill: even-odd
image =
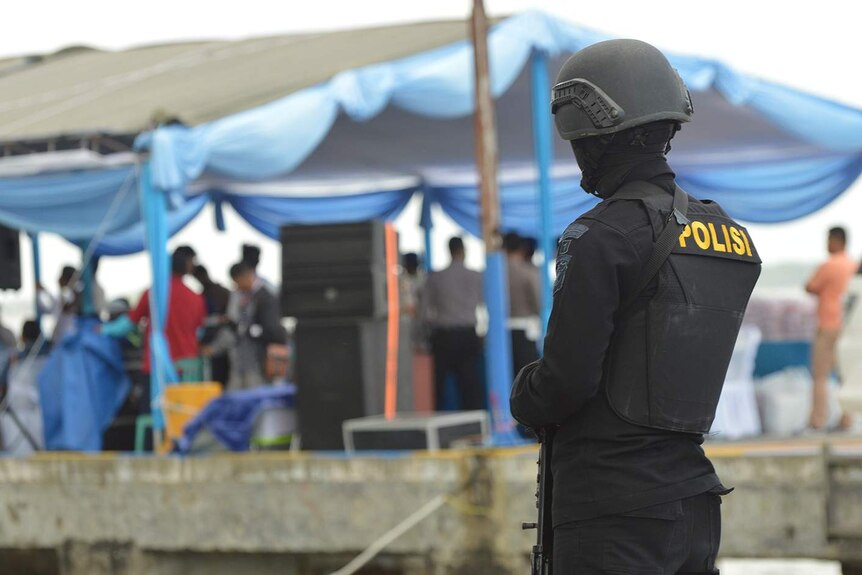
[{"label": "all white overcast sky, above the tent and through gaps beneath it", "polygon": [[[165,41],[466,18],[471,6],[470,0],[28,0],[7,4],[0,18],[0,57],[50,52],[69,45],[122,49]],[[790,6],[789,2],[755,0],[487,0],[485,5],[492,15],[546,10],[614,36],[639,38],[669,51],[719,59],[738,70],[862,108],[862,42],[858,31],[862,10],[855,2],[822,0]],[[855,246],[862,248],[860,214],[862,188],[857,183],[832,206],[812,216],[791,224],[752,226],[752,234],[767,262],[815,261],[823,255],[823,234],[833,224],[848,226],[851,242],[855,237]],[[415,221],[412,213],[402,218],[402,232],[415,228]],[[234,246],[254,240],[264,247],[265,270],[277,278],[279,256],[274,242],[236,218],[230,218],[228,236],[213,237],[211,222],[200,218],[177,240],[200,244],[206,239],[215,251],[204,253],[202,259],[213,268],[215,277],[226,279],[220,269],[226,268],[222,261],[225,250],[232,261],[238,255]],[[441,245],[445,241],[438,239]],[[418,236],[410,242],[413,245],[408,247],[419,247]],[[862,249],[852,251],[862,255]],[[45,240],[43,253],[43,270],[51,283],[59,266],[74,263],[78,257],[75,250],[50,238]],[[128,292],[149,281],[142,256],[107,260],[100,274],[104,274],[109,294]],[[109,278],[122,279],[111,286]],[[0,301],[7,297],[11,296],[0,297]]]}]

